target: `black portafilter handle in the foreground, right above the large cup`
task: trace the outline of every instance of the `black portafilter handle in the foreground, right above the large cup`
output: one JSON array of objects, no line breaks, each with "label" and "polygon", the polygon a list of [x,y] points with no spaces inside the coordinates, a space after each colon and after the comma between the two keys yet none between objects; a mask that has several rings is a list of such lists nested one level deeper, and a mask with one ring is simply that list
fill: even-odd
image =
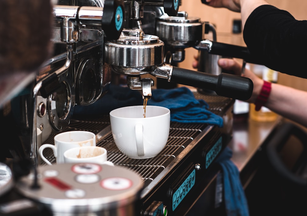
[{"label": "black portafilter handle in the foreground, right above the large cup", "polygon": [[248,100],[253,93],[251,79],[232,74],[207,74],[173,67],[170,81],[196,88],[215,91],[217,95],[238,100]]}]

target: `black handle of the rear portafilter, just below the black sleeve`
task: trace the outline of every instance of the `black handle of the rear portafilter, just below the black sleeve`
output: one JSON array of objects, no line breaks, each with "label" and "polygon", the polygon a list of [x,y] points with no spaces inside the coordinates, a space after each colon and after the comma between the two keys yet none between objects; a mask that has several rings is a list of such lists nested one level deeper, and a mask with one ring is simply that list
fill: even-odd
[{"label": "black handle of the rear portafilter, just below the black sleeve", "polygon": [[237,46],[233,44],[225,44],[211,41],[212,46],[208,51],[209,54],[221,55],[230,58],[244,59],[248,63],[263,65],[261,59],[252,56],[247,47]]}]

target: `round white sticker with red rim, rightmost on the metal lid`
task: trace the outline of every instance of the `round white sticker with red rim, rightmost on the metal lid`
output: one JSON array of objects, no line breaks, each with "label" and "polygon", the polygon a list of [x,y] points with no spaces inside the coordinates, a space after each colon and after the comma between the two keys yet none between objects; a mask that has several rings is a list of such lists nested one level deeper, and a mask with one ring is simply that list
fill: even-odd
[{"label": "round white sticker with red rim, rightmost on the metal lid", "polygon": [[132,181],[122,177],[111,177],[102,180],[100,185],[108,190],[125,190],[132,186]]}]

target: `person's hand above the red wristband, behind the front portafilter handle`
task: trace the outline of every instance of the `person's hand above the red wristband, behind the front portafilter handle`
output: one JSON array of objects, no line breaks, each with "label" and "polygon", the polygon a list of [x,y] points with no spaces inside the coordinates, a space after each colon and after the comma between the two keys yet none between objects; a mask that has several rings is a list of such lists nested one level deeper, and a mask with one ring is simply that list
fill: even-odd
[{"label": "person's hand above the red wristband, behind the front portafilter handle", "polygon": [[232,70],[236,75],[241,75],[243,77],[250,78],[251,81],[254,83],[254,89],[253,93],[250,99],[247,100],[249,103],[255,103],[256,98],[260,94],[262,85],[263,85],[263,80],[256,76],[251,70],[248,70],[247,68],[244,71],[244,74],[241,74],[242,72],[242,64],[240,64],[238,61],[234,59],[219,59],[218,61],[219,66],[222,69],[225,70]]}]

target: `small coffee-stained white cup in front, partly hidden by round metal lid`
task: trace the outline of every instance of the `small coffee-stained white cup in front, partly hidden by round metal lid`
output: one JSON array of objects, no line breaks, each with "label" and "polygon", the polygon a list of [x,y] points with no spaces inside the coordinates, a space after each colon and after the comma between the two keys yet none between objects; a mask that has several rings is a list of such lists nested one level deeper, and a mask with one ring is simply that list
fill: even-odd
[{"label": "small coffee-stained white cup in front, partly hidden by round metal lid", "polygon": [[114,166],[107,161],[107,150],[100,146],[81,146],[64,152],[64,163],[95,163]]}]

